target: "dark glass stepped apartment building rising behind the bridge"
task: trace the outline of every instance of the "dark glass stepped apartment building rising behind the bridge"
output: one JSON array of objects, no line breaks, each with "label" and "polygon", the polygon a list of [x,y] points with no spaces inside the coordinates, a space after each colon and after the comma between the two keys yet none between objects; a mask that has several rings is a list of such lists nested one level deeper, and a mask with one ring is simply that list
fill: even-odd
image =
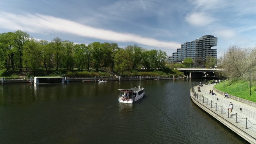
[{"label": "dark glass stepped apartment building rising behind the bridge", "polygon": [[194,60],[194,67],[203,67],[206,61],[206,56],[217,58],[217,50],[212,49],[212,46],[217,46],[218,38],[205,35],[191,42],[186,42],[177,48],[177,52],[172,53],[168,57],[169,64],[183,63],[185,58]]}]

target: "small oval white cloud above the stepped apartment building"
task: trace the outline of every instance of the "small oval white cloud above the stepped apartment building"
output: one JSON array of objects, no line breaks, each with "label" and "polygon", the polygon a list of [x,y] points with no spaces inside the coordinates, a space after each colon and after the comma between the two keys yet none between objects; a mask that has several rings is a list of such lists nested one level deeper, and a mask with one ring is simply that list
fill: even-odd
[{"label": "small oval white cloud above the stepped apartment building", "polygon": [[194,13],[188,14],[185,17],[185,20],[186,22],[188,22],[193,26],[206,26],[216,21],[215,18],[208,16],[204,12],[194,12]]}]

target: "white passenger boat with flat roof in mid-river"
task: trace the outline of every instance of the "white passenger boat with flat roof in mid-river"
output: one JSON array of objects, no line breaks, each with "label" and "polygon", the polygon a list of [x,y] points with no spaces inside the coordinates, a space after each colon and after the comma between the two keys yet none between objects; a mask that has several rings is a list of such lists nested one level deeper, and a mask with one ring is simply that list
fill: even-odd
[{"label": "white passenger boat with flat roof in mid-river", "polygon": [[134,103],[140,98],[144,97],[144,88],[130,88],[128,90],[125,89],[118,89],[119,90],[119,96],[118,96],[118,102],[122,103]]}]

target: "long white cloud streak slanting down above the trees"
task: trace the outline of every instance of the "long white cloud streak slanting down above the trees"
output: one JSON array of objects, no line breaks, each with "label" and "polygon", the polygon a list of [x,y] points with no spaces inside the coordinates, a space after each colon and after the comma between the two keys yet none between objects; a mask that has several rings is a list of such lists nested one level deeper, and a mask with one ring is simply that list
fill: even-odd
[{"label": "long white cloud streak slanting down above the trees", "polygon": [[0,12],[0,21],[0,27],[8,30],[24,30],[26,32],[41,34],[46,32],[61,32],[64,34],[73,34],[114,42],[135,42],[137,44],[159,48],[176,49],[177,47],[180,47],[180,44],[176,42],[160,41],[130,33],[118,33],[41,14],[16,15]]}]

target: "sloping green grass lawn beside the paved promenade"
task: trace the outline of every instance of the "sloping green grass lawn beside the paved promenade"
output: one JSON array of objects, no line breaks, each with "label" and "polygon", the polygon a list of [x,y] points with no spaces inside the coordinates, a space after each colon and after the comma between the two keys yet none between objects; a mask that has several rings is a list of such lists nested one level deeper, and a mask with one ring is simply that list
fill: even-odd
[{"label": "sloping green grass lawn beside the paved promenade", "polygon": [[251,81],[251,96],[250,96],[250,82],[244,80],[238,80],[231,82],[230,80],[225,81],[214,86],[216,89],[222,92],[228,92],[228,94],[256,102],[256,82]]}]

